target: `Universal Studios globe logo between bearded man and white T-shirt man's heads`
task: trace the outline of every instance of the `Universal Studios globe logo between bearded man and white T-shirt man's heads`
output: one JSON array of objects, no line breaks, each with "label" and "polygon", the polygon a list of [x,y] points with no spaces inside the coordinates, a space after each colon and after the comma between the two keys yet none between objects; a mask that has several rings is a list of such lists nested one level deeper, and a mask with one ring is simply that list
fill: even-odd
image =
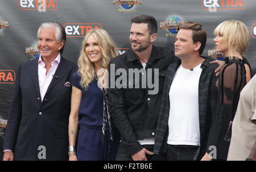
[{"label": "Universal Studios globe logo between bearded man and white T-shirt man's heads", "polygon": [[168,17],[166,20],[160,21],[160,29],[163,29],[167,32],[167,37],[176,36],[177,28],[180,24],[183,24],[184,22],[185,21],[181,20],[177,16]]}]

